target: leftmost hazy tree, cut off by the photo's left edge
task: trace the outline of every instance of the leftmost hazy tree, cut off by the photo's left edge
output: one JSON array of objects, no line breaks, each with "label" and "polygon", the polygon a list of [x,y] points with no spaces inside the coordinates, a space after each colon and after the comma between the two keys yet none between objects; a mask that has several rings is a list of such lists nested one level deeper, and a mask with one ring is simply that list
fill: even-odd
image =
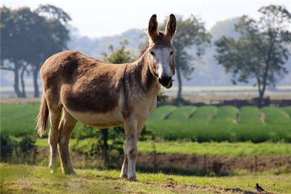
[{"label": "leftmost hazy tree, cut off by the photo's left edge", "polygon": [[[24,58],[30,52],[29,45],[29,23],[28,18],[32,16],[29,8],[20,8],[10,10],[7,7],[1,7],[0,22],[0,47],[1,63],[0,69],[14,72],[14,90],[17,97],[26,97],[23,75],[27,70],[28,64]],[[21,70],[21,87],[19,89],[19,71]]]}]

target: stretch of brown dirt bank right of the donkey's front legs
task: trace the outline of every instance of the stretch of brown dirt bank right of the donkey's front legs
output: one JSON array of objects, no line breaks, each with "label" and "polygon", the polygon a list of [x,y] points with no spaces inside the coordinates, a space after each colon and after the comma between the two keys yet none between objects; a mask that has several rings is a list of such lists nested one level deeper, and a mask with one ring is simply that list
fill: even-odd
[{"label": "stretch of brown dirt bank right of the donkey's front legs", "polygon": [[[154,155],[139,155],[137,165],[154,166]],[[156,166],[163,169],[167,168],[184,168],[184,169],[209,169],[215,173],[231,172],[237,169],[253,171],[255,157],[242,156],[200,156],[186,154],[157,154]],[[291,169],[291,156],[257,156],[258,172],[272,170],[280,167],[289,167]]]}]

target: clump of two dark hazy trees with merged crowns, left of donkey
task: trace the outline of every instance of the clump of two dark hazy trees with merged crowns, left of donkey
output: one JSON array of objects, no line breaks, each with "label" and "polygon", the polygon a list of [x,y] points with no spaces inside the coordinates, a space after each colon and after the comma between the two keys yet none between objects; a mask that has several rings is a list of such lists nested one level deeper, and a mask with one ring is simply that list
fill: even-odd
[{"label": "clump of two dark hazy trees with merged crowns, left of donkey", "polygon": [[[12,10],[2,7],[0,69],[14,72],[17,97],[26,97],[24,74],[32,75],[34,97],[39,97],[37,78],[41,65],[66,48],[70,16],[53,5]],[[19,85],[19,80],[20,84]]]}]

